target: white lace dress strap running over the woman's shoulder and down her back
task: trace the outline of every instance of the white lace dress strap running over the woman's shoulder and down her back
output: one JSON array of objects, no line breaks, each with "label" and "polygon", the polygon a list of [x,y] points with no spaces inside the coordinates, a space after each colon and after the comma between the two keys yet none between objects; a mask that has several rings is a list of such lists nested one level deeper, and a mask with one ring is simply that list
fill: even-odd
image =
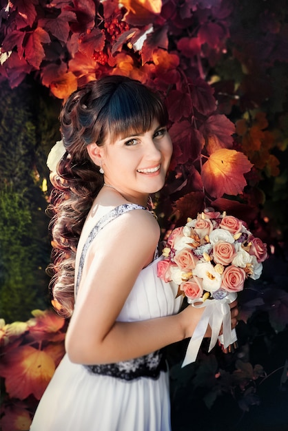
[{"label": "white lace dress strap running over the woman's shoulder and down her back", "polygon": [[94,240],[97,233],[99,233],[99,231],[101,231],[101,229],[103,229],[103,227],[106,226],[106,224],[112,222],[112,220],[119,217],[119,215],[127,213],[128,211],[132,211],[132,209],[145,209],[145,211],[146,211],[146,208],[141,207],[141,205],[122,204],[122,205],[119,205],[118,207],[115,207],[114,209],[109,211],[107,214],[103,215],[103,217],[101,217],[101,219],[93,227],[92,231],[88,235],[88,238],[87,238],[87,240],[83,246],[82,252],[81,252],[81,256],[80,256],[80,260],[79,260],[79,270],[78,270],[77,280],[76,280],[75,289],[74,289],[75,297],[76,297],[76,294],[77,294],[77,291],[79,288],[79,284],[81,281],[85,257],[86,257],[86,254],[88,252],[88,249],[89,249],[91,242]]}]

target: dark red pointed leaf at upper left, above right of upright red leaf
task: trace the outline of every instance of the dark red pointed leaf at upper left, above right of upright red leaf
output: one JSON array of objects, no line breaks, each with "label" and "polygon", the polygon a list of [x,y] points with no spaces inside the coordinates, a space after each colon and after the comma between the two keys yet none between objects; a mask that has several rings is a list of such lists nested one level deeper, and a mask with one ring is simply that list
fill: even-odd
[{"label": "dark red pointed leaf at upper left, above right of upright red leaf", "polygon": [[67,42],[70,32],[69,21],[76,21],[76,14],[65,10],[61,12],[59,17],[39,19],[38,25],[49,31],[53,36],[59,39],[59,41]]}]

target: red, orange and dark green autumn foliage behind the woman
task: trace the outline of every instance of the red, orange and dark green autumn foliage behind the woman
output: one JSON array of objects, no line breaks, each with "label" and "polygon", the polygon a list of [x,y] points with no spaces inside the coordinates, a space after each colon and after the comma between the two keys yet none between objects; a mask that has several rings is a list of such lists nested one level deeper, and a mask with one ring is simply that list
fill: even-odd
[{"label": "red, orange and dark green autumn foliage behind the woman", "polygon": [[121,5],[0,0],[1,427],[28,430],[63,355],[67,322],[50,312],[45,275],[45,159],[61,103],[77,85],[125,74],[169,108],[174,158],[154,196],[163,238],[213,206],[269,249],[263,276],[239,295],[236,352],[207,355],[203,343],[181,369],[186,343],[167,348],[173,430],[287,430],[287,1]]}]

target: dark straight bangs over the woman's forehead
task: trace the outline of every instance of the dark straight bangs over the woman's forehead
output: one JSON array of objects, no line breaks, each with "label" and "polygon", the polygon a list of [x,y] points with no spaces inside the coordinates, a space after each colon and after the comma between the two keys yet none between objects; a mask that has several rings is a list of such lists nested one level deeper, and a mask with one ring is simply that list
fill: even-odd
[{"label": "dark straight bangs over the woman's forehead", "polygon": [[109,134],[113,142],[125,136],[147,132],[154,120],[158,120],[160,126],[168,122],[167,109],[158,96],[142,85],[132,88],[126,83],[119,85],[112,94],[105,118],[105,136]]}]

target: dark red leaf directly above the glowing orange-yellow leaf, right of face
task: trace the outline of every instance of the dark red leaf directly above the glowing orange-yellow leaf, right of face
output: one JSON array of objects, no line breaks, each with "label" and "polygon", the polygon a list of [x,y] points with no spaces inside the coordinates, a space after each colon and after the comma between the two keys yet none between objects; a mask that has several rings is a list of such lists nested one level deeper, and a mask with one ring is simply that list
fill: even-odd
[{"label": "dark red leaf directly above the glowing orange-yellow leaf, right of face", "polygon": [[235,125],[223,114],[209,116],[200,126],[207,142],[208,154],[214,153],[220,148],[231,148],[233,145],[232,134],[235,133]]}]

